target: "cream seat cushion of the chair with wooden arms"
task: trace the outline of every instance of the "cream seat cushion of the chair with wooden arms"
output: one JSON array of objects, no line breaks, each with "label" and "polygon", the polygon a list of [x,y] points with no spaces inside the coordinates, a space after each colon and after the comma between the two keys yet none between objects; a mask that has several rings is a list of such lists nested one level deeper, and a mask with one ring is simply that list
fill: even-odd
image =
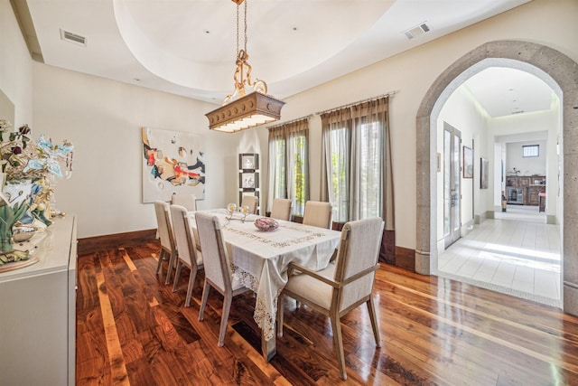
[{"label": "cream seat cushion of the chair with wooden arms", "polygon": [[[335,264],[331,263],[327,268],[316,273],[324,278],[333,280]],[[289,278],[285,289],[317,306],[322,306],[326,310],[330,309],[333,287],[323,283],[321,280],[302,273]]]}]

